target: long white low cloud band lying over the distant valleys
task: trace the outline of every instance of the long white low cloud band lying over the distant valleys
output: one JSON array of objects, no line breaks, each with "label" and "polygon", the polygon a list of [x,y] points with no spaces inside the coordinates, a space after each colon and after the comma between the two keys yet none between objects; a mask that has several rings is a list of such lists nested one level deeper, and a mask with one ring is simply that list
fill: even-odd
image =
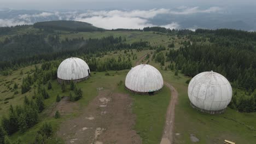
[{"label": "long white low cloud band lying over the distant valleys", "polygon": [[32,24],[38,21],[75,20],[89,22],[96,27],[105,29],[116,28],[144,28],[162,26],[170,29],[179,29],[181,26],[175,21],[166,25],[153,25],[154,17],[164,15],[189,15],[196,13],[217,13],[219,7],[200,9],[199,7],[178,7],[177,9],[150,9],[150,10],[86,10],[86,11],[54,11],[36,14],[22,14],[3,20],[0,17],[0,26],[15,26]]}]

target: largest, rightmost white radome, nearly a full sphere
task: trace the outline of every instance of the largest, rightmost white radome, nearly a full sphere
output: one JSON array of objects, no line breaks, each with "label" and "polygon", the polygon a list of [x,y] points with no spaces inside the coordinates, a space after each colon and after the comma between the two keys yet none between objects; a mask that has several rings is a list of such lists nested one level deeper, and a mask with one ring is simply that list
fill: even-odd
[{"label": "largest, rightmost white radome, nearly a full sphere", "polygon": [[197,74],[188,86],[190,102],[207,111],[220,111],[226,108],[232,98],[229,81],[213,71]]}]

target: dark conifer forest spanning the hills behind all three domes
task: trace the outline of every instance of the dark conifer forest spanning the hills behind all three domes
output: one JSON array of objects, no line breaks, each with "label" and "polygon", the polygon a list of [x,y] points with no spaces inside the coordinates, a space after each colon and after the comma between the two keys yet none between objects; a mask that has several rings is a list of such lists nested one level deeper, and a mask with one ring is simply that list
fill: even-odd
[{"label": "dark conifer forest spanning the hills behind all three domes", "polygon": [[[240,101],[242,100],[237,100],[246,98],[244,99],[246,103],[246,101],[255,101],[254,99],[256,99],[253,93],[256,89],[255,32],[236,31],[232,29],[197,29],[195,32],[192,32],[189,30],[175,30],[162,27],[146,27],[143,29],[144,32],[168,35],[168,37],[169,35],[177,35],[179,39],[188,39],[178,43],[181,45],[179,49],[173,49],[177,45],[174,44],[173,38],[169,38],[172,42],[168,44],[168,47],[161,45],[151,46],[150,44],[152,43],[147,41],[147,39],[127,43],[126,39],[129,39],[129,37],[119,36],[115,38],[109,36],[101,38],[100,34],[98,38],[84,39],[83,36],[73,37],[75,33],[71,33],[72,37],[69,34],[65,34],[65,39],[63,39],[63,33],[74,31],[74,29],[68,29],[68,27],[91,27],[89,23],[53,21],[36,23],[34,26],[37,28],[43,28],[44,26],[49,28],[53,26],[51,27],[52,29],[59,29],[58,26],[63,26],[66,29],[64,28],[63,30],[65,31],[61,33],[40,30],[39,34],[28,33],[5,37],[2,42],[0,41],[0,69],[4,70],[1,72],[3,75],[8,75],[10,68],[17,69],[20,65],[37,64],[42,61],[53,61],[60,58],[82,55],[88,57],[88,62],[92,70],[120,70],[129,68],[131,65],[122,64],[123,66],[121,66],[120,64],[115,64],[115,59],[108,59],[106,61],[107,63],[113,63],[112,65],[99,64],[100,62],[97,62],[95,57],[101,56],[102,52],[114,50],[156,49],[153,56],[156,62],[160,62],[162,65],[165,62],[171,62],[167,68],[179,70],[187,76],[193,77],[202,71],[209,70],[224,75],[231,82],[233,88],[246,91],[245,95],[252,95],[250,97],[243,97],[236,90],[234,93],[235,100],[231,101],[231,107],[240,109],[240,111],[256,110],[256,108],[248,110],[246,106],[241,108],[240,105],[242,104]],[[3,33],[13,33],[15,29],[16,31],[18,29],[21,31],[22,28],[27,27],[1,28],[1,31]],[[113,33],[129,31],[129,29],[121,30],[118,31],[118,29],[115,29]],[[132,31],[143,33],[139,29],[133,29]],[[162,51],[167,48],[168,52],[164,55]],[[118,62],[121,61],[119,60]],[[120,68],[118,68],[119,66]]]}]

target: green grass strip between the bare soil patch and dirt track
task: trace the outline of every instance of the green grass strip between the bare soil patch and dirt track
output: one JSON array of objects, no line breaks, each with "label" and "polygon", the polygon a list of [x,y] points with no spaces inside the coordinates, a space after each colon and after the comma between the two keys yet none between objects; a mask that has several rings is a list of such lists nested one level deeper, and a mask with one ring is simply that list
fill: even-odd
[{"label": "green grass strip between the bare soil patch and dirt track", "polygon": [[171,98],[167,87],[152,96],[130,93],[136,115],[135,130],[143,144],[160,143],[165,126],[166,110]]}]

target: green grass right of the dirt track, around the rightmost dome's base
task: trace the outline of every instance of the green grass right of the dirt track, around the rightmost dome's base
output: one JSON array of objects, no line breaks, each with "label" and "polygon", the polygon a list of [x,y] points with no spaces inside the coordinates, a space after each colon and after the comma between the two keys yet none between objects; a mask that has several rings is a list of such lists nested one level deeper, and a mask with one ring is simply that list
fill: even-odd
[{"label": "green grass right of the dirt track, around the rightmost dome's base", "polygon": [[[220,115],[196,111],[190,106],[187,94],[188,84],[185,81],[190,78],[182,74],[174,76],[172,71],[161,70],[161,73],[165,81],[170,82],[178,91],[174,130],[180,135],[175,137],[175,143],[192,143],[190,134],[200,139],[198,143],[223,143],[224,140],[236,143],[255,143],[255,112],[240,113],[229,107],[225,113]],[[236,122],[227,118],[235,119]]]}]

